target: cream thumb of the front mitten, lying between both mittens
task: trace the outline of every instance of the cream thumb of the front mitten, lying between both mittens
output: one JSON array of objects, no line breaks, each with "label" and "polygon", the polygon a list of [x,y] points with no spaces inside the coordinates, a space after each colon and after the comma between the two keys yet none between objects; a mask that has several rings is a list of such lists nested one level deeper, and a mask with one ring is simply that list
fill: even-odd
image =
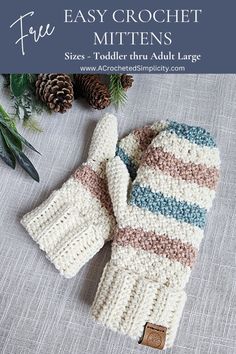
[{"label": "cream thumb of the front mitten, lying between both mittens", "polygon": [[113,211],[119,223],[127,209],[128,188],[131,180],[126,165],[118,156],[108,161],[106,171]]}]

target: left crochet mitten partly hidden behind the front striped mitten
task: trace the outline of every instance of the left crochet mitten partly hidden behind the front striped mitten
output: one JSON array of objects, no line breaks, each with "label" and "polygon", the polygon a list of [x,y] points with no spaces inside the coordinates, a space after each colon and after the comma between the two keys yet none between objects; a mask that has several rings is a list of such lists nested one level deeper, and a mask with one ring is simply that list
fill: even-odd
[{"label": "left crochet mitten partly hidden behind the front striped mitten", "polygon": [[116,118],[97,124],[88,160],[50,197],[26,214],[21,223],[66,278],[71,278],[113,235],[116,224],[105,166],[116,154],[135,176],[142,152],[164,128],[157,122],[133,131],[117,144]]}]

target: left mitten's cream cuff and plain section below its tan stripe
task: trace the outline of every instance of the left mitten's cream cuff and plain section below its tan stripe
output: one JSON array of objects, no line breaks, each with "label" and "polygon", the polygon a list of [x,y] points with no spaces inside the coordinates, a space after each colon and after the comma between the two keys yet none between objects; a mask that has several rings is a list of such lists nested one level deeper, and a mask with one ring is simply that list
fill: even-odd
[{"label": "left mitten's cream cuff and plain section below its tan stripe", "polygon": [[21,223],[66,278],[76,275],[103,247],[114,226],[107,210],[74,178],[26,214]]}]

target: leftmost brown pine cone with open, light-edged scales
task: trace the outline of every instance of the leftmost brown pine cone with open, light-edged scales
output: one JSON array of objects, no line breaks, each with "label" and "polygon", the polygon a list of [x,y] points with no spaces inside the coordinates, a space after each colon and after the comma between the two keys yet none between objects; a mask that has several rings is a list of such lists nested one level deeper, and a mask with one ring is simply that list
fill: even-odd
[{"label": "leftmost brown pine cone with open, light-edged scales", "polygon": [[73,84],[66,74],[39,74],[36,94],[51,111],[64,113],[72,107]]}]

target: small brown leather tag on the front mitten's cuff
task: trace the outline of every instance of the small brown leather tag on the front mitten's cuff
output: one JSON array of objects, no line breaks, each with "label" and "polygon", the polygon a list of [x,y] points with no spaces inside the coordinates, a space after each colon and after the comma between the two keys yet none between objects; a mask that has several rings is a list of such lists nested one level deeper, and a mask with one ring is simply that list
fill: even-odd
[{"label": "small brown leather tag on the front mitten's cuff", "polygon": [[144,328],[143,338],[140,344],[155,349],[163,349],[166,340],[167,328],[147,322]]}]

